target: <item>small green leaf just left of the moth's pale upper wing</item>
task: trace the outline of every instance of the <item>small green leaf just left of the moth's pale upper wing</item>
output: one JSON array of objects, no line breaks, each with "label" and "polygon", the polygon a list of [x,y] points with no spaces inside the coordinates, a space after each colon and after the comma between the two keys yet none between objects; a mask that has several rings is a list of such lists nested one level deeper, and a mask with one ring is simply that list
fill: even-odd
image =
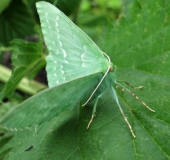
[{"label": "small green leaf just left of the moth's pale upper wing", "polygon": [[[14,66],[12,75],[0,93],[0,100],[11,94],[21,79],[28,74],[37,64],[44,61],[41,52],[41,44],[14,40],[11,42],[13,47],[12,64]],[[29,84],[28,84],[29,85]],[[39,86],[37,86],[38,88]],[[39,88],[42,89],[42,88]],[[36,88],[30,93],[37,92]]]}]

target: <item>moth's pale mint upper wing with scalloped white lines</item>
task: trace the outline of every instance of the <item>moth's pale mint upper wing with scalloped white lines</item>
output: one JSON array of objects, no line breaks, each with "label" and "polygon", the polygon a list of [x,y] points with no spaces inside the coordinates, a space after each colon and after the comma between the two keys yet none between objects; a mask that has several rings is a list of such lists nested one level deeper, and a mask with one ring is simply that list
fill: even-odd
[{"label": "moth's pale mint upper wing with scalloped white lines", "polygon": [[49,50],[47,57],[49,86],[106,72],[110,65],[108,59],[60,10],[47,2],[38,2],[37,10]]}]

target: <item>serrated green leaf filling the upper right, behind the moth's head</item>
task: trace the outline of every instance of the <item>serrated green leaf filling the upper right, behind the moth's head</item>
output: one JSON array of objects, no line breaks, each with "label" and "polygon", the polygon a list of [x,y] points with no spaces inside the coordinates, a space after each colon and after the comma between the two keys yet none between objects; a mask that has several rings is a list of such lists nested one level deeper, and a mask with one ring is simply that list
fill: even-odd
[{"label": "serrated green leaf filling the upper right, behind the moth's head", "polygon": [[118,68],[169,76],[169,9],[170,4],[165,0],[149,1],[142,9],[135,2],[126,18],[122,17],[118,25],[108,27],[99,45]]}]

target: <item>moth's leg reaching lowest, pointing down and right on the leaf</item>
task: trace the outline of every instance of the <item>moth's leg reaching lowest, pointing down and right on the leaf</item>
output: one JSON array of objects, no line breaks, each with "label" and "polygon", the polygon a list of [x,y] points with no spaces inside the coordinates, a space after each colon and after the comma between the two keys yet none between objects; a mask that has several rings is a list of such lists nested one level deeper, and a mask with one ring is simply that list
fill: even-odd
[{"label": "moth's leg reaching lowest, pointing down and right on the leaf", "polygon": [[135,134],[134,134],[134,132],[133,132],[132,126],[130,125],[130,123],[129,123],[127,117],[126,117],[126,115],[124,114],[124,112],[123,112],[123,110],[122,110],[122,107],[121,107],[120,104],[119,104],[119,100],[118,100],[117,94],[116,94],[116,92],[115,92],[115,90],[114,90],[113,87],[112,87],[112,91],[113,91],[113,96],[114,96],[114,98],[115,98],[115,100],[116,100],[116,103],[117,103],[117,105],[118,105],[118,107],[119,107],[119,110],[120,110],[120,112],[121,112],[121,114],[122,114],[125,122],[127,123],[127,125],[128,125],[128,127],[129,127],[129,129],[130,129],[130,132],[131,132],[132,136],[133,136],[134,138],[136,138],[136,136],[135,136]]}]

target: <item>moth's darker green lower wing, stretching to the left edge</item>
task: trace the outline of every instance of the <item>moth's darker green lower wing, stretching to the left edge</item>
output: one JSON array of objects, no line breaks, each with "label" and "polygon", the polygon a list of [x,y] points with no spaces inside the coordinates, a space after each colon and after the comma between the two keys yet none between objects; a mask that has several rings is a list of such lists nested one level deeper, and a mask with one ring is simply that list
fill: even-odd
[{"label": "moth's darker green lower wing, stretching to the left edge", "polygon": [[[19,130],[49,121],[84,102],[101,76],[95,74],[44,90],[11,110],[0,120],[0,124],[3,128]],[[84,86],[88,87],[83,89]]]}]

